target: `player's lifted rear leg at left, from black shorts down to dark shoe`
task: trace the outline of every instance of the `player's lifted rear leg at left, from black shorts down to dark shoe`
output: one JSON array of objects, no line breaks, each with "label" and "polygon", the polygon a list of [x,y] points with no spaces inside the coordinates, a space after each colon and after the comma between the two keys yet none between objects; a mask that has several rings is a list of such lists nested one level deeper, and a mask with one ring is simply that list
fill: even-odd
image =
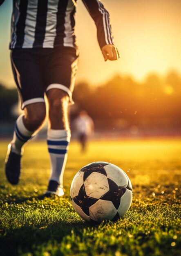
[{"label": "player's lifted rear leg at left, from black shorts down to dark shoe", "polygon": [[19,181],[22,147],[37,133],[46,115],[41,73],[36,58],[34,49],[14,49],[11,52],[14,79],[24,110],[24,114],[16,121],[5,160],[5,173],[11,184]]}]

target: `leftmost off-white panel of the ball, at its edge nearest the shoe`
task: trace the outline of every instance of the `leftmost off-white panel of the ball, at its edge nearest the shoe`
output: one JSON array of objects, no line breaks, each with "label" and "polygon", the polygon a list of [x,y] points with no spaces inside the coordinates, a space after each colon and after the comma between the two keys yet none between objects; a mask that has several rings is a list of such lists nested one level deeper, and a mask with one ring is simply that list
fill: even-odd
[{"label": "leftmost off-white panel of the ball, at its edge nearest the shoe", "polygon": [[70,187],[70,197],[74,198],[78,195],[78,192],[81,188],[81,186],[84,184],[83,180],[84,172],[78,172],[74,176],[74,179],[72,180],[72,184]]}]

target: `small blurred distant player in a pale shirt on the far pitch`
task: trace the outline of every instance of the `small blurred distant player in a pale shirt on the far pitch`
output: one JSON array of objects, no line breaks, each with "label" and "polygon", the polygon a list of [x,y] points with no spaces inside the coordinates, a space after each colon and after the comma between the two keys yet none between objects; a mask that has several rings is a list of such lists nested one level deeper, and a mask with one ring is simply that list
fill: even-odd
[{"label": "small blurred distant player in a pale shirt on the far pitch", "polygon": [[94,135],[94,122],[85,110],[81,110],[78,117],[74,119],[73,126],[80,141],[81,149],[85,151],[87,140]]}]

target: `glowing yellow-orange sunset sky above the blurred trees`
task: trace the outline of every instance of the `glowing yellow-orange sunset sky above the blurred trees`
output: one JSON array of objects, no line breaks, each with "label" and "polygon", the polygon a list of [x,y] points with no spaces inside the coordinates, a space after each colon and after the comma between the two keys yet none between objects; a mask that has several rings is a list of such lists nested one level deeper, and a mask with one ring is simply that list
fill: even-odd
[{"label": "glowing yellow-orange sunset sky above the blurred trees", "polygon": [[[0,7],[0,82],[14,85],[9,61],[12,0]],[[115,45],[121,58],[103,60],[96,27],[81,0],[76,13],[80,49],[78,81],[104,83],[114,74],[143,80],[150,72],[181,73],[181,0],[102,0],[109,11]]]}]

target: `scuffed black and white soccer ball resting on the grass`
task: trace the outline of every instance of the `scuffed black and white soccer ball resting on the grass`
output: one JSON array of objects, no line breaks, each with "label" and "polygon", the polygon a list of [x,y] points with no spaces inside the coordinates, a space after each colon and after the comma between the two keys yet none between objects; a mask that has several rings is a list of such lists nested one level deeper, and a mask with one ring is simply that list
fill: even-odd
[{"label": "scuffed black and white soccer ball resting on the grass", "polygon": [[72,180],[70,197],[84,220],[117,220],[132,203],[132,184],[121,168],[106,162],[87,164]]}]

